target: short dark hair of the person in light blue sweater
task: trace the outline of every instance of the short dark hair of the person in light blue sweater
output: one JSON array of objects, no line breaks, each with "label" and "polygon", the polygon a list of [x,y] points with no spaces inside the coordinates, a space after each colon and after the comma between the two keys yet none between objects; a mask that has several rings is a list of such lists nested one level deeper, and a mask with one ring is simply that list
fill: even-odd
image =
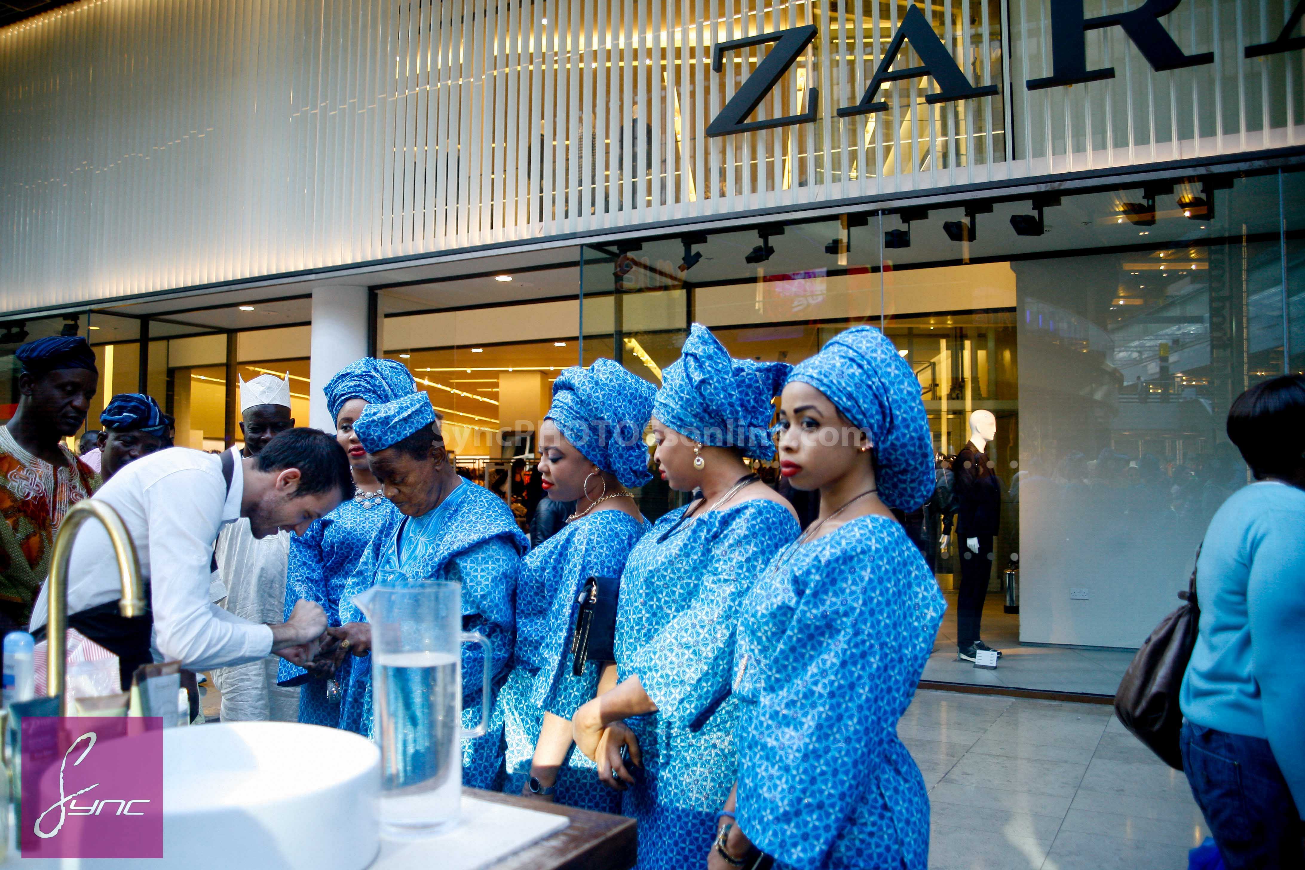
[{"label": "short dark hair of the person in light blue sweater", "polygon": [[1228,440],[1257,479],[1291,477],[1305,464],[1305,376],[1257,383],[1228,410]]}]

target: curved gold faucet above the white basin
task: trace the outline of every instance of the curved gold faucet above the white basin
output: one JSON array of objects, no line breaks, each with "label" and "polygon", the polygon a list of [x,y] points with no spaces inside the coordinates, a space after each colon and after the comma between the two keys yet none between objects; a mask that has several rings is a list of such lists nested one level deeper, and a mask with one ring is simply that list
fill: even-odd
[{"label": "curved gold faucet above the white basin", "polygon": [[50,582],[47,591],[47,607],[50,616],[46,626],[48,646],[46,652],[46,697],[59,698],[59,715],[68,715],[68,697],[65,693],[68,676],[65,659],[68,657],[68,562],[73,554],[73,539],[81,531],[87,519],[98,519],[108,532],[108,540],[114,544],[114,556],[117,560],[117,574],[123,580],[123,597],[117,601],[117,609],[124,617],[144,616],[146,609],[145,587],[141,584],[141,563],[136,557],[136,545],[132,543],[127,527],[123,526],[121,517],[108,503],[98,498],[84,498],[64,515],[63,526],[59,527],[59,536],[55,539],[55,550],[50,558]]}]

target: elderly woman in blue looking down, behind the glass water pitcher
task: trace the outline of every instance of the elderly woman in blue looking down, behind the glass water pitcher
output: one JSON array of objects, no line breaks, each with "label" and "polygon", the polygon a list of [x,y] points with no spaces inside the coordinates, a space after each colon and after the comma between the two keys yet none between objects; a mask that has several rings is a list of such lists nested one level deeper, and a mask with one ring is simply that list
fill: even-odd
[{"label": "elderly woman in blue looking down, behind the glass water pitcher", "polygon": [[[367,406],[354,429],[398,513],[372,539],[345,584],[339,612],[350,646],[355,652],[369,648],[371,631],[352,599],[372,587],[378,571],[398,571],[412,583],[461,582],[462,626],[483,634],[492,648],[485,661],[479,644],[462,647],[463,724],[476,725],[483,669],[491,669],[497,693],[512,657],[517,574],[530,543],[501,498],[458,476],[425,393]],[[355,664],[354,682],[365,680],[363,727],[375,736],[369,677],[369,668]],[[493,698],[489,703],[493,707]],[[483,737],[462,745],[462,781],[497,788],[501,780],[502,723],[491,721]]]}]

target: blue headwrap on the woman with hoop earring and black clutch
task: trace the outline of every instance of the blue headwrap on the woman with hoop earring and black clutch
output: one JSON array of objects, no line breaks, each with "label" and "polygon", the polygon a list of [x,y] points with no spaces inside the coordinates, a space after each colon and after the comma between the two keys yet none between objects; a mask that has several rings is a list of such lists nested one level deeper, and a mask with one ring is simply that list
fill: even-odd
[{"label": "blue headwrap on the woman with hoop earring and black clutch", "polygon": [[615,360],[573,365],[553,381],[552,420],[562,437],[595,466],[616,475],[624,487],[642,487],[649,473],[643,429],[652,413],[656,387]]}]

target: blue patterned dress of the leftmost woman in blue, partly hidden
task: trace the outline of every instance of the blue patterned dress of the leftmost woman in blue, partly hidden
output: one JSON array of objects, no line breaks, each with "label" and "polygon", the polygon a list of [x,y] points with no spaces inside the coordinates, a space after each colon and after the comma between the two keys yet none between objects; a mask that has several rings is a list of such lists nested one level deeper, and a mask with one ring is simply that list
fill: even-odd
[{"label": "blue patterned dress of the leftmost woman in blue, partly hidden", "polygon": [[[397,514],[389,500],[381,500],[372,507],[363,507],[351,498],[309,526],[303,535],[291,536],[284,618],[290,618],[290,612],[299,599],[307,599],[326,610],[328,625],[339,626],[339,600],[345,592],[345,582],[354,573],[376,532],[388,526]],[[354,595],[361,591],[355,590]],[[311,680],[307,670],[281,659],[277,683],[303,686],[299,693],[299,721],[367,733],[360,721],[361,698],[350,694],[352,686],[350,669],[354,661],[354,656],[346,656],[335,672],[341,699],[328,700],[325,680]]]}]

